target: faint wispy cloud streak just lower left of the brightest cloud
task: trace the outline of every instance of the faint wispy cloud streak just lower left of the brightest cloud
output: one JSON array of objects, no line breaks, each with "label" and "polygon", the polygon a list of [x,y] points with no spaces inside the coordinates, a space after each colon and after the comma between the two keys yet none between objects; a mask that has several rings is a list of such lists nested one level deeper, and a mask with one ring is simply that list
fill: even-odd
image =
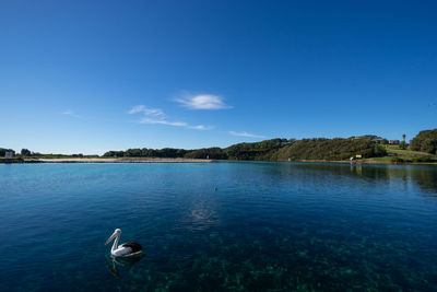
[{"label": "faint wispy cloud streak just lower left of the brightest cloud", "polygon": [[193,130],[211,130],[212,126],[204,125],[196,125],[192,126],[186,121],[172,121],[167,119],[167,115],[160,108],[149,108],[144,105],[135,105],[133,106],[128,114],[143,114],[145,117],[140,118],[140,124],[150,124],[150,125],[167,125],[173,127],[184,127],[187,129]]}]

